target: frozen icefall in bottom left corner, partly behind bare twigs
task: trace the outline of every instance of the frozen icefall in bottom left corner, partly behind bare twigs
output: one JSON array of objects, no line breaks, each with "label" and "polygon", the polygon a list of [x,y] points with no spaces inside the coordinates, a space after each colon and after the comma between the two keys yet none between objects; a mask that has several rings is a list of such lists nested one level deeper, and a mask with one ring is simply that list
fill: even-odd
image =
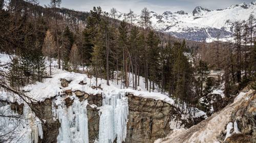
[{"label": "frozen icefall in bottom left corner, partly behind bare twigs", "polygon": [[[2,104],[4,104],[2,102]],[[24,115],[19,116],[15,113],[10,105],[0,107],[0,112],[4,116],[14,116],[16,118],[1,117],[0,118],[0,136],[1,139],[10,139],[8,142],[28,142],[37,143],[38,136],[43,137],[42,126],[39,119],[32,112],[30,107],[25,104],[23,108]],[[11,132],[11,134],[9,133]],[[8,133],[8,134],[7,134]],[[6,135],[5,135],[6,134]]]}]

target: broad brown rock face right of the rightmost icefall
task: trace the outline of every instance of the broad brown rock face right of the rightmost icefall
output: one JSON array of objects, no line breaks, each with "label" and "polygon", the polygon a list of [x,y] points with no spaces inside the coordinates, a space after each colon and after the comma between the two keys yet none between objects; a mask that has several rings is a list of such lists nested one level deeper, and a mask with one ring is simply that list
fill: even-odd
[{"label": "broad brown rock face right of the rightmost icefall", "polygon": [[161,100],[127,95],[129,116],[125,142],[154,142],[170,132],[169,122],[173,117],[181,120],[176,107]]}]

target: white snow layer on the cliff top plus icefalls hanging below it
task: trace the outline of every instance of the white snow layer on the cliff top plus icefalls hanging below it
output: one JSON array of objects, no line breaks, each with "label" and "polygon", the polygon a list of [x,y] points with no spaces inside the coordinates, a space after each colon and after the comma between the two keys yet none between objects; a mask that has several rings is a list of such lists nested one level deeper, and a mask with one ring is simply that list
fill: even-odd
[{"label": "white snow layer on the cliff top plus icefalls hanging below it", "polygon": [[[2,54],[3,56],[0,59],[3,61],[8,61],[8,56]],[[49,64],[49,61],[46,61],[46,64]],[[157,85],[154,92],[148,92],[145,88],[145,78],[139,76],[140,84],[138,86],[139,90],[132,89],[132,74],[130,73],[130,85],[128,89],[120,89],[120,84],[117,84],[117,80],[110,81],[110,85],[106,84],[106,80],[98,78],[98,83],[96,85],[96,78],[89,78],[87,74],[68,72],[65,70],[57,69],[57,62],[53,61],[52,63],[52,75],[51,78],[45,78],[42,82],[35,82],[34,84],[26,85],[22,88],[24,93],[36,100],[43,102],[46,99],[51,98],[53,101],[52,112],[54,120],[60,122],[59,134],[57,136],[57,143],[87,143],[89,142],[88,136],[88,118],[87,118],[87,105],[88,101],[79,101],[79,98],[75,96],[74,92],[79,90],[81,92],[86,92],[89,95],[102,95],[102,106],[97,107],[92,104],[91,107],[97,107],[99,109],[99,138],[95,140],[98,143],[105,143],[109,141],[114,141],[117,138],[117,143],[121,143],[125,140],[126,137],[126,124],[129,114],[127,94],[133,94],[134,96],[142,98],[150,98],[155,100],[162,100],[171,105],[175,105],[175,102],[172,98],[167,95],[158,93],[160,90]],[[49,72],[49,67],[48,67]],[[69,80],[70,83],[68,87],[63,88],[61,86],[60,79]],[[80,81],[86,84],[79,84]],[[120,81],[120,80],[119,80]],[[121,82],[119,82],[121,83]],[[100,86],[102,90],[92,89],[92,86]],[[71,90],[73,95],[65,95],[65,91]],[[18,102],[18,104],[24,103],[23,100],[20,100],[17,95],[10,95],[4,91],[0,91],[0,100],[8,102]],[[65,99],[71,98],[74,100],[72,106],[67,107],[65,104]],[[30,102],[30,101],[28,101]],[[57,106],[57,108],[56,108]],[[179,106],[178,106],[179,107]],[[26,109],[26,117],[32,120],[30,117],[34,117],[34,113]],[[194,117],[205,116],[206,114],[203,111],[198,109]],[[191,113],[190,113],[191,115]],[[189,117],[189,113],[182,116],[183,119]],[[24,136],[22,140],[29,142],[28,140],[34,140],[34,143],[37,143],[38,137],[42,138],[42,126],[38,119],[27,124],[26,129],[20,129],[17,132]],[[2,118],[0,118],[1,120]],[[175,123],[169,123],[170,126]],[[180,124],[180,123],[176,123]],[[183,128],[181,125],[177,125],[176,128]]]}]

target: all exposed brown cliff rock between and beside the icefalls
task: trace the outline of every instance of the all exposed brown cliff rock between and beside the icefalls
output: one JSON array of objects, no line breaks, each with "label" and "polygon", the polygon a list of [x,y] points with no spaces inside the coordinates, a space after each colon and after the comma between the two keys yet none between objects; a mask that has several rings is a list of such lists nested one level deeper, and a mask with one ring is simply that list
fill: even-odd
[{"label": "all exposed brown cliff rock between and beside the icefalls", "polygon": [[[69,94],[66,93],[66,96]],[[89,142],[93,143],[99,138],[99,108],[102,106],[102,95],[89,95],[85,92],[76,91],[75,95],[80,101],[87,100],[87,118]],[[79,96],[78,96],[79,95]],[[86,98],[84,96],[86,95]],[[178,108],[161,100],[147,99],[134,95],[126,95],[129,103],[129,116],[127,121],[126,138],[127,143],[154,142],[157,138],[166,136],[170,131],[170,121],[179,121],[184,127],[192,126],[193,120],[182,120],[181,112]],[[74,103],[71,97],[65,98],[66,106]],[[46,121],[42,124],[44,131],[43,139],[39,142],[57,142],[60,123],[53,120],[52,99],[44,102],[34,103],[36,115]],[[201,119],[198,119],[201,120]],[[196,121],[195,122],[200,122]],[[114,141],[115,142],[115,141]]]}]

